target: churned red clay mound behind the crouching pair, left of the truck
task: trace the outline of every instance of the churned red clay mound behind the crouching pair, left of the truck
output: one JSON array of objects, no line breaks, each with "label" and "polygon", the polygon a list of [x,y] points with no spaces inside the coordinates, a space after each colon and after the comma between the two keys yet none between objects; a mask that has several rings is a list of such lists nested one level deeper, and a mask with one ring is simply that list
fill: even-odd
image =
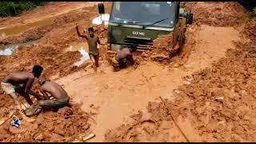
[{"label": "churned red clay mound behind the crouching pair, left of the truck", "polygon": [[[74,27],[76,21],[79,23],[84,22],[84,25],[81,26],[81,31],[82,28],[92,26],[90,22],[88,22],[88,16],[86,16],[85,12],[81,14],[69,14],[69,16],[63,16],[55,20],[54,24],[51,24],[51,26],[55,26],[55,28],[50,30],[37,44],[22,47],[18,51],[15,51],[10,57],[4,58],[4,56],[0,56],[0,58],[3,58],[3,61],[1,61],[3,65],[0,66],[0,78],[9,74],[11,71],[23,70],[23,68],[24,70],[30,71],[34,64],[40,64],[44,67],[46,77],[58,73],[63,77],[74,72],[76,66],[73,66],[73,64],[74,62],[78,62],[81,54],[79,54],[78,51],[64,53],[64,50],[70,46],[71,43],[85,41],[83,38],[79,38],[76,33]],[[62,23],[65,22],[66,24],[62,25]],[[100,38],[106,37],[106,26],[94,26],[94,28]],[[21,36],[21,38],[23,37]],[[17,62],[14,59],[20,60]]]}]

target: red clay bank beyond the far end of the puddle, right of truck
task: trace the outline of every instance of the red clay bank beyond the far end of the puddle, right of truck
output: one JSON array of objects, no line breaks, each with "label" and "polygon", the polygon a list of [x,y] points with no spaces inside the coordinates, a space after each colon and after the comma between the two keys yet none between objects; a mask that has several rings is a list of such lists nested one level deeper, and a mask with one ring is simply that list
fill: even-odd
[{"label": "red clay bank beyond the far end of the puddle, right of truck", "polygon": [[246,10],[238,2],[182,2],[194,14],[194,23],[209,26],[235,26]]}]

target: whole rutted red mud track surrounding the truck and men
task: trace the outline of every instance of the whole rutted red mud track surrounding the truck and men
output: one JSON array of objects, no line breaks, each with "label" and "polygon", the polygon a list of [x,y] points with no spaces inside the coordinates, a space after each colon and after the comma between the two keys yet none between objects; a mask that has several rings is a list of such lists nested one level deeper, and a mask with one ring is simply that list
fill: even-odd
[{"label": "whole rutted red mud track surrounding the truck and men", "polygon": [[[166,107],[190,142],[255,141],[256,47],[252,42],[256,22],[244,21],[246,11],[236,2],[186,2],[184,6],[190,4],[194,24],[186,31],[180,54],[166,62],[154,62],[150,54],[136,54],[139,65],[117,73],[106,61],[100,62],[97,74],[85,66],[74,66],[80,54],[65,51],[82,42],[75,33],[75,23],[86,28],[98,16],[86,8],[61,14],[49,25],[0,39],[6,45],[39,38],[33,46],[0,56],[0,78],[41,64],[44,75],[57,79],[72,98],[71,108],[39,114],[31,125],[22,121],[19,130],[6,123],[0,127],[0,141],[63,142],[93,131],[96,137],[91,142],[185,142]],[[34,15],[40,14],[34,11]],[[0,26],[17,19],[4,19]],[[106,26],[94,27],[105,41]],[[12,100],[0,90],[0,115],[5,116]],[[168,99],[166,107],[160,96]]]}]

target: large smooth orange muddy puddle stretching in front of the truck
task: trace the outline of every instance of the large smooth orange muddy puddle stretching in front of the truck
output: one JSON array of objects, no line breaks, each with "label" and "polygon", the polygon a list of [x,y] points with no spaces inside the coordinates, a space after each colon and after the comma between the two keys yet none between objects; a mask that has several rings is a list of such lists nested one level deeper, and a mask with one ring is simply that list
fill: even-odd
[{"label": "large smooth orange muddy puddle stretching in front of the truck", "polygon": [[[230,27],[202,26],[193,38],[196,46],[182,67],[147,62],[136,70],[129,67],[114,73],[110,66],[101,64],[102,74],[87,70],[58,80],[76,102],[82,103],[83,110],[98,113],[94,126],[96,137],[91,142],[104,141],[107,129],[131,121],[131,114],[145,109],[150,101],[158,101],[159,96],[173,98],[173,90],[186,83],[183,77],[210,66],[224,57],[226,50],[234,48],[232,42],[238,40],[238,31]],[[83,74],[88,75],[78,78]]]}]

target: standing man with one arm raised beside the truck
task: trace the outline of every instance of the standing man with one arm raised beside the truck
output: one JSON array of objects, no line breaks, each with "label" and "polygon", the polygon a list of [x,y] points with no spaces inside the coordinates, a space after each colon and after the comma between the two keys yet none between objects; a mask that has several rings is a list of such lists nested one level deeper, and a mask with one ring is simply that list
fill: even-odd
[{"label": "standing man with one arm raised beside the truck", "polygon": [[94,70],[97,71],[98,58],[99,58],[98,44],[106,45],[106,43],[101,43],[99,41],[98,36],[94,35],[94,28],[93,27],[88,28],[89,36],[80,34],[80,32],[78,30],[78,24],[76,24],[76,30],[77,30],[77,33],[78,33],[79,37],[86,38],[86,41],[87,41],[88,46],[89,46],[90,60],[93,62]]}]

